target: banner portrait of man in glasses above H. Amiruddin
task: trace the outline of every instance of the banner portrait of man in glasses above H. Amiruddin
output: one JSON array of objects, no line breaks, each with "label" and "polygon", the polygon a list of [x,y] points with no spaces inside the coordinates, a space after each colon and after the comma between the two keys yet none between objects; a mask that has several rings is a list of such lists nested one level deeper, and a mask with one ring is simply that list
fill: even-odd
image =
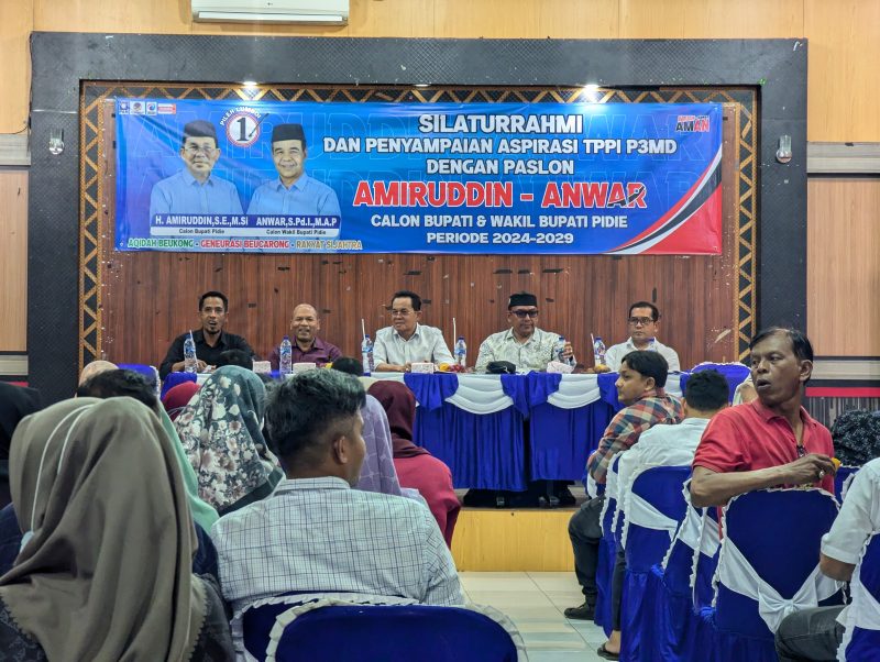
[{"label": "banner portrait of man in glasses above H. Amiruddin", "polygon": [[156,183],[150,194],[151,221],[157,213],[243,213],[235,186],[211,176],[220,158],[213,124],[196,120],[184,126],[180,158],[186,167]]}]

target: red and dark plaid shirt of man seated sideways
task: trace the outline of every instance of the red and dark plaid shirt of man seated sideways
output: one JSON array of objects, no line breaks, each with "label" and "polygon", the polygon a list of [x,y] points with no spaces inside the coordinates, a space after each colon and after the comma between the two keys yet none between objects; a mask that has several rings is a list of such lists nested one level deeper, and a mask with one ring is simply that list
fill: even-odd
[{"label": "red and dark plaid shirt of man seated sideways", "polygon": [[684,418],[681,400],[658,388],[650,395],[618,411],[605,428],[598,449],[586,461],[590,475],[596,483],[605,482],[614,456],[626,451],[651,426],[680,423]]}]

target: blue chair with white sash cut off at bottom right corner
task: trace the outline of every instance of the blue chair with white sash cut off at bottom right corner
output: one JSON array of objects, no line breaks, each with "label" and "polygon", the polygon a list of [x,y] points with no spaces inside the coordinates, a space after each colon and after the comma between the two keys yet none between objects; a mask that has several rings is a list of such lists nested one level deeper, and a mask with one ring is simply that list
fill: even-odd
[{"label": "blue chair with white sash cut off at bottom right corner", "polygon": [[[849,586],[844,650],[847,662],[880,661],[880,533],[868,539]],[[873,605],[871,605],[871,603]]]}]

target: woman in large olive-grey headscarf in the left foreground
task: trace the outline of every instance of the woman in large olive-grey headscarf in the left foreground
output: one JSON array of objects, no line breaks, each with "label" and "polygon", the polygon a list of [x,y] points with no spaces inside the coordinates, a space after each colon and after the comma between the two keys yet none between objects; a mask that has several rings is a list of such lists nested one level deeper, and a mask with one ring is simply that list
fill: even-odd
[{"label": "woman in large olive-grey headscarf in the left foreground", "polygon": [[232,659],[217,586],[191,574],[196,532],[172,442],[146,406],[76,398],[33,415],[15,430],[10,473],[26,533],[0,577],[0,650]]}]

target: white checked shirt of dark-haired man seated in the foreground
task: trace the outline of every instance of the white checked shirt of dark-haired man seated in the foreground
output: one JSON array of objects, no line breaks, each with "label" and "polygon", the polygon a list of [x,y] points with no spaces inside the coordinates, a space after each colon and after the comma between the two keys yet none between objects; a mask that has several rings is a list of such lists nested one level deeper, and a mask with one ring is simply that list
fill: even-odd
[{"label": "white checked shirt of dark-haired man seated in the foreground", "polygon": [[235,613],[285,593],[361,593],[464,604],[430,510],[337,477],[284,479],[211,529],[223,597]]}]

